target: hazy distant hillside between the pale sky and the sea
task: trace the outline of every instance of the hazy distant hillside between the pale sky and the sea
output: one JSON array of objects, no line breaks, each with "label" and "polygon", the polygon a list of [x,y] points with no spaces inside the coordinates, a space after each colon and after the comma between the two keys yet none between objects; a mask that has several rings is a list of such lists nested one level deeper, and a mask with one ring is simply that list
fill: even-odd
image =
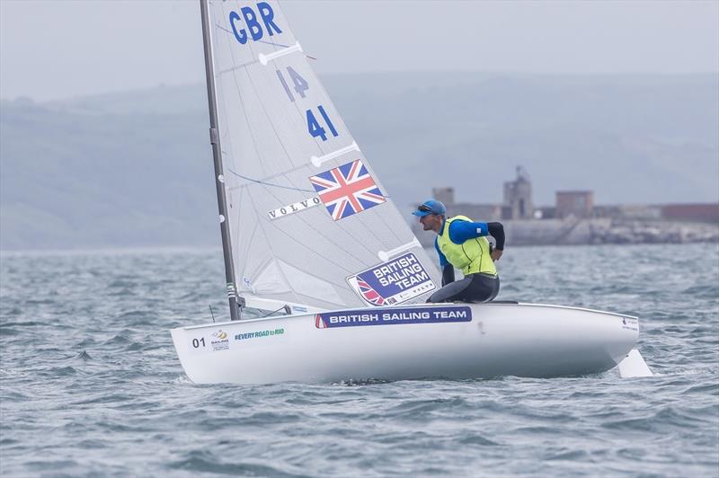
[{"label": "hazy distant hillside between the pale sky and the sea", "polygon": [[[452,185],[496,203],[514,166],[537,204],[719,200],[717,75],[323,78],[400,207]],[[4,249],[217,244],[203,85],[3,101]]]}]

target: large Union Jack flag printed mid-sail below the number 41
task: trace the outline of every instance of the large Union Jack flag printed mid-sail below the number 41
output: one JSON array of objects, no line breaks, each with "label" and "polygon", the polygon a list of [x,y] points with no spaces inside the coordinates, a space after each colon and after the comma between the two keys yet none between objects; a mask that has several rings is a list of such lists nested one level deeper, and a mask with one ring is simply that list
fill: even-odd
[{"label": "large Union Jack flag printed mid-sail below the number 41", "polygon": [[311,176],[309,181],[335,221],[386,202],[360,159]]}]

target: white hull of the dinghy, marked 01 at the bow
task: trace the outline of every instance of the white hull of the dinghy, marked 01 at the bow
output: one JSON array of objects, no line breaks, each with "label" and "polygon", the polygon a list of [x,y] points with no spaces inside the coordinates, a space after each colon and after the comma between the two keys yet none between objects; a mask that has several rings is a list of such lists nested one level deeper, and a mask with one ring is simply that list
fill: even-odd
[{"label": "white hull of the dinghy, marked 01 at the bow", "polygon": [[[392,318],[388,314],[393,311],[404,311],[406,317],[431,313],[463,318],[441,323],[402,316],[383,320]],[[334,314],[334,324],[329,314]],[[317,314],[301,314],[212,323],[173,329],[172,334],[193,382],[263,384],[577,376],[615,367],[639,333],[635,317],[557,305],[367,307],[351,311],[357,320],[350,326],[347,315],[337,319],[342,314],[324,314],[322,321]],[[338,326],[338,320],[345,322]]]}]

